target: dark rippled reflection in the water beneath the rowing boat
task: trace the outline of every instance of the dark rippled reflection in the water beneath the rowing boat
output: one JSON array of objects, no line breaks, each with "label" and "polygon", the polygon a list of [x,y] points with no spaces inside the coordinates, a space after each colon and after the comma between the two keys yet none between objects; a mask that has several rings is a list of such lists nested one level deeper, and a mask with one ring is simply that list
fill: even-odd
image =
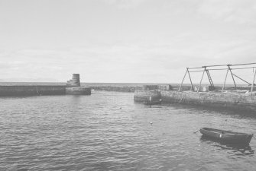
[{"label": "dark rippled reflection in the water beneath the rowing boat", "polygon": [[213,138],[202,136],[200,138],[201,143],[209,144],[212,147],[217,147],[219,150],[225,150],[228,154],[234,154],[237,156],[253,156],[254,150],[251,149],[249,144],[230,144],[222,141],[218,141]]}]

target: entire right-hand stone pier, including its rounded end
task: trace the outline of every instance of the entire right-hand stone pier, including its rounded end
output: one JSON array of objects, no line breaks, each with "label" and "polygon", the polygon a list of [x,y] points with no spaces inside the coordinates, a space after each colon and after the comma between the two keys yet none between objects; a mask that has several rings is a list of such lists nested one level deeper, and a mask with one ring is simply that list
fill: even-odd
[{"label": "entire right-hand stone pier, including its rounded end", "polygon": [[135,102],[145,102],[149,97],[161,100],[163,103],[207,106],[240,112],[256,111],[256,96],[251,93],[179,92],[175,90],[135,90],[134,92]]}]

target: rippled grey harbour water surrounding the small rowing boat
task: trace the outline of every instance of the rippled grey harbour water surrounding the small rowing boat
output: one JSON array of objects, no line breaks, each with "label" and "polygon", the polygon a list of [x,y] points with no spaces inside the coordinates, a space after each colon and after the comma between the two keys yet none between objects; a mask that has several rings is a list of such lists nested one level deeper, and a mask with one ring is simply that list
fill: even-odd
[{"label": "rippled grey harbour water surrounding the small rowing boat", "polygon": [[256,139],[238,147],[193,132],[206,126],[256,133],[256,116],[150,108],[133,96],[1,97],[0,170],[255,170]]}]

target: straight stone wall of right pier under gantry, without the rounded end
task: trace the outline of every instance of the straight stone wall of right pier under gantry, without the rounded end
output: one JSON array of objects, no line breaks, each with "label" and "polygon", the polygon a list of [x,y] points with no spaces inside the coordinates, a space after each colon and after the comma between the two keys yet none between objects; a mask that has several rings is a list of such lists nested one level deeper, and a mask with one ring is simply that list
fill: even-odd
[{"label": "straight stone wall of right pier under gantry, without the rounded end", "polygon": [[256,112],[256,97],[250,94],[161,91],[160,96],[166,103],[183,103]]}]

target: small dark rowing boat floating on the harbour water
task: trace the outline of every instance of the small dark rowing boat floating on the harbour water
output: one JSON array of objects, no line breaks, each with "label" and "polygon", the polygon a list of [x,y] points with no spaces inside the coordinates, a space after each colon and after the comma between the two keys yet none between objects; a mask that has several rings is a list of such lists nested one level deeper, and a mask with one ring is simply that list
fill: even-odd
[{"label": "small dark rowing boat floating on the harbour water", "polygon": [[249,144],[253,137],[253,134],[249,135],[241,132],[225,131],[215,128],[201,128],[200,132],[207,138],[213,138],[221,142],[232,144]]}]

